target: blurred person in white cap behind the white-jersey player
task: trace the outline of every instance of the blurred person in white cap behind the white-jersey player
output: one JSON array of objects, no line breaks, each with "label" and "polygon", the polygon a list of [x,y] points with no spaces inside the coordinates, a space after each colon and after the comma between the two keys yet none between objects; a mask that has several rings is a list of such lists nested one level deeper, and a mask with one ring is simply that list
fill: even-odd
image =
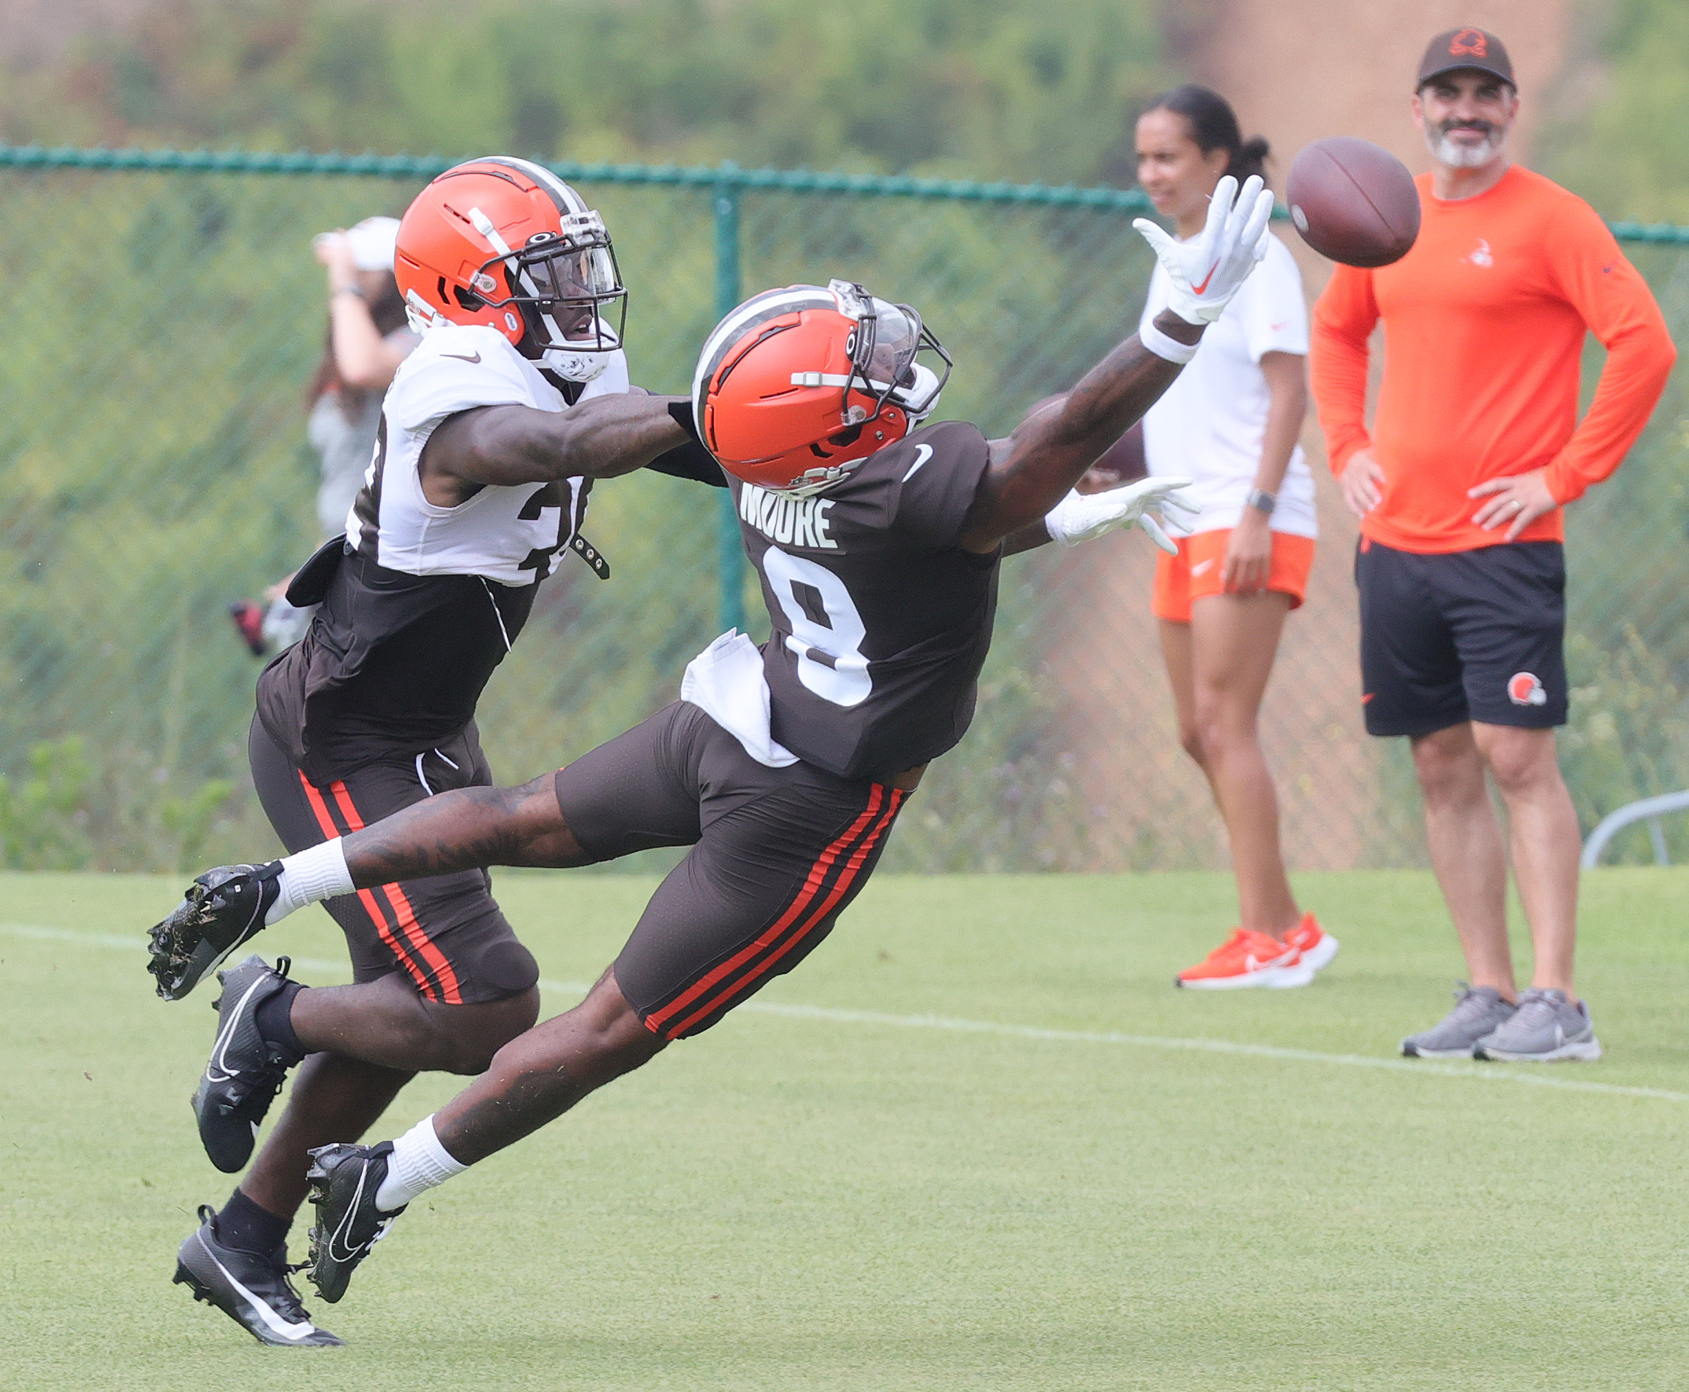
[{"label": "blurred person in white cap behind the white-jersey player", "polygon": [[[382,395],[417,345],[394,280],[397,237],[397,218],[365,218],[356,226],[324,231],[311,243],[328,269],[328,334],[311,378],[306,419],[306,439],[323,468],[318,485],[323,541],[346,530],[346,514],[375,451]],[[235,627],[257,657],[291,647],[311,625],[312,610],[287,603],[285,590],[282,579],[265,591],[263,605],[253,600],[230,605]]]}]

